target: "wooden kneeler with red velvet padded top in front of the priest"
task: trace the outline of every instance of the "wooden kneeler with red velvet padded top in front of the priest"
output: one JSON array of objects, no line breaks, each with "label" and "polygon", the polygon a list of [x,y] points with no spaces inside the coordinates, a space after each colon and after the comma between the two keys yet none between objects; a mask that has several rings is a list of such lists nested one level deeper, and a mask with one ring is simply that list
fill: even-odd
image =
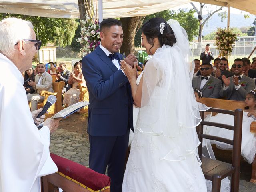
[{"label": "wooden kneeler with red velvet padded top in front of the priest", "polygon": [[41,177],[42,192],[110,192],[110,178],[76,162],[50,154],[58,172]]}]

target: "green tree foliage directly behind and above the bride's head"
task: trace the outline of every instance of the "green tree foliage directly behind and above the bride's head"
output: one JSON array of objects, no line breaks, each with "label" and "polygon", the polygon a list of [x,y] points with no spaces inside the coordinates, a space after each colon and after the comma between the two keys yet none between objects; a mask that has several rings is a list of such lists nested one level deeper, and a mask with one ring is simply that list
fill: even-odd
[{"label": "green tree foliage directly behind and above the bride's head", "polygon": [[[180,23],[180,26],[186,30],[189,41],[192,41],[193,35],[198,34],[199,29],[198,19],[194,17],[194,12],[194,10],[189,10],[188,12],[185,12],[184,10],[165,10],[146,16],[143,23],[155,17],[164,18],[167,21],[171,18],[175,19]],[[137,47],[140,46],[140,38],[141,31],[139,29],[135,35],[135,46]]]}]

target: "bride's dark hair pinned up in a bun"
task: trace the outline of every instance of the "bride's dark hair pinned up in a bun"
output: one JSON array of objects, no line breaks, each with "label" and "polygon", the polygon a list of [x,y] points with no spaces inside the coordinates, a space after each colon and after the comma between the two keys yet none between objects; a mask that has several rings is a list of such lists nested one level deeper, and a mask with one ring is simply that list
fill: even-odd
[{"label": "bride's dark hair pinned up in a bun", "polygon": [[[164,23],[163,34],[160,32],[161,23]],[[152,45],[152,47],[154,46],[154,38],[158,38],[161,47],[163,44],[173,46],[173,44],[176,43],[176,38],[172,28],[163,18],[152,18],[146,21],[143,24],[141,31],[146,36],[148,43]],[[149,49],[149,52],[151,48]]]}]

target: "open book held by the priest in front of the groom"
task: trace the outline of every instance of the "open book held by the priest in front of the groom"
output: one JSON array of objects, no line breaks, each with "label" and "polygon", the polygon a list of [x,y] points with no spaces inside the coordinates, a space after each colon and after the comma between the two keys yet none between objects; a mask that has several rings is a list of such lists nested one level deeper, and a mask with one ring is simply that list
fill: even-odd
[{"label": "open book held by the priest in front of the groom", "polygon": [[[86,105],[89,105],[88,101],[81,101],[81,102],[75,103],[75,104],[73,104],[71,106],[68,106],[67,108],[62,109],[58,113],[56,113],[54,116],[52,116],[52,119],[55,119],[55,118],[66,118],[67,116],[70,116],[71,114],[73,114],[74,112],[78,111],[79,109],[85,107]],[[37,126],[37,128],[38,129],[42,128],[43,124],[44,124],[44,122],[39,124]]]}]

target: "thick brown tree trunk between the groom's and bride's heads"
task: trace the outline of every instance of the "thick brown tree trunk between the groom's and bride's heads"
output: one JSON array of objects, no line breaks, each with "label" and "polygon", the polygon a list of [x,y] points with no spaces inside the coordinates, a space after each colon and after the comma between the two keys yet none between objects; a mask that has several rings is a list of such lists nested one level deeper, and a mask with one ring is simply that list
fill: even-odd
[{"label": "thick brown tree trunk between the groom's and bride's heads", "polygon": [[120,18],[124,32],[121,54],[125,53],[128,56],[130,53],[134,53],[134,38],[142,18],[143,16]]}]

